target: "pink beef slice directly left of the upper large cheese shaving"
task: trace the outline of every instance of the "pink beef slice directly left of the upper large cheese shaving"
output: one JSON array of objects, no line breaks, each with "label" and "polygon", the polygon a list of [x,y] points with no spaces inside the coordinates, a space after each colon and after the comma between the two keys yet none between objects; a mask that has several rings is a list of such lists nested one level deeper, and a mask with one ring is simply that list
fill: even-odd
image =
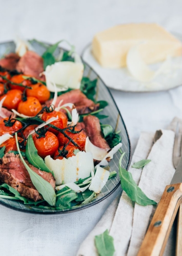
[{"label": "pink beef slice directly left of the upper large cheese shaving", "polygon": [[20,58],[20,61],[16,65],[16,69],[26,75],[45,80],[44,77],[40,77],[40,73],[44,71],[43,59],[35,52],[27,51]]}]

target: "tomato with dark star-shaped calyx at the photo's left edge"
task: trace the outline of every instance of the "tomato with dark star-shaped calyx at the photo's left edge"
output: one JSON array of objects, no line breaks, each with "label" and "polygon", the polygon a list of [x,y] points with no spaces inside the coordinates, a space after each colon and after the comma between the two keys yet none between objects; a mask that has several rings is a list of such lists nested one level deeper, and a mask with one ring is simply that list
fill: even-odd
[{"label": "tomato with dark star-shaped calyx at the photo's left edge", "polygon": [[15,133],[22,128],[22,124],[14,119],[10,120],[8,117],[0,120],[0,136],[5,133]]}]

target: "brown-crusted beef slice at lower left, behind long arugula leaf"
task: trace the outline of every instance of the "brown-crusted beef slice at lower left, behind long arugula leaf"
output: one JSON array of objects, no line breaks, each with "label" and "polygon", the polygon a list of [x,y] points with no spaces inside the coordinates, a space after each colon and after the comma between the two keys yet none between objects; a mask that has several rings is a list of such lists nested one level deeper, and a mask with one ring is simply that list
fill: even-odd
[{"label": "brown-crusted beef slice at lower left, behind long arugula leaf", "polygon": [[[28,161],[26,161],[26,163],[30,166],[32,171],[35,171],[39,176],[45,179],[45,181],[48,181],[55,189],[55,179],[51,173],[40,171],[33,165],[30,165]],[[23,197],[30,198],[35,202],[42,199],[42,196],[34,187],[30,175],[20,160],[19,155],[6,153],[0,160],[0,181],[15,188]]]}]

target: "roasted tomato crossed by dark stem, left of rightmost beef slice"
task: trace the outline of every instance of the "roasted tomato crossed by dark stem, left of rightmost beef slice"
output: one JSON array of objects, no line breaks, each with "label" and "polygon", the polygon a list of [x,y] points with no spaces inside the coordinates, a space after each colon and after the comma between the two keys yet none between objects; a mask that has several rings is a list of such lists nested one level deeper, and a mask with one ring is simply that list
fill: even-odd
[{"label": "roasted tomato crossed by dark stem, left of rightmost beef slice", "polygon": [[[78,129],[75,128],[75,131],[78,131]],[[71,132],[65,131],[65,133],[76,142],[76,144],[81,148],[81,150],[84,149],[85,142],[86,142],[86,135],[82,131],[80,133],[71,133]],[[69,142],[69,139],[67,139],[62,133],[58,133],[57,138],[61,146]],[[69,145],[73,146],[71,142]]]}]

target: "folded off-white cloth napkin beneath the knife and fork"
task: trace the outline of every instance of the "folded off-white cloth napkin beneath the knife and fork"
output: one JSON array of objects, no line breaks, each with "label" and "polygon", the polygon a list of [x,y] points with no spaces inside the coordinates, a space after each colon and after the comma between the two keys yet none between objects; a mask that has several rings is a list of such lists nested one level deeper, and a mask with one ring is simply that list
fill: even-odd
[{"label": "folded off-white cloth napkin beneath the knife and fork", "polygon": [[[175,172],[172,153],[175,137],[173,131],[177,122],[177,118],[173,119],[168,127],[171,130],[141,133],[128,170],[142,191],[157,203],[159,203],[166,185],[170,184]],[[142,159],[150,159],[151,162],[143,169],[131,167],[135,162]],[[156,206],[141,206],[131,202],[123,191],[121,198],[118,199],[117,197],[111,203],[96,227],[83,241],[77,256],[97,256],[94,237],[106,229],[114,238],[115,256],[136,256],[155,209]],[[174,233],[173,228],[164,253],[165,256],[174,255]]]}]

